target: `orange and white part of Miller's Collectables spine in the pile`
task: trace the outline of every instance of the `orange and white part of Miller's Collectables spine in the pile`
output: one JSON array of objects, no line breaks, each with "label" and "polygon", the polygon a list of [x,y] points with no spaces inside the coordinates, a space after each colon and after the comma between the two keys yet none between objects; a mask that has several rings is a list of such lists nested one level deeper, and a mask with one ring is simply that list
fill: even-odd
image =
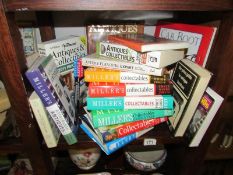
[{"label": "orange and white part of Miller's Collectables spine in the pile", "polygon": [[149,83],[150,76],[133,72],[84,70],[86,82]]}]

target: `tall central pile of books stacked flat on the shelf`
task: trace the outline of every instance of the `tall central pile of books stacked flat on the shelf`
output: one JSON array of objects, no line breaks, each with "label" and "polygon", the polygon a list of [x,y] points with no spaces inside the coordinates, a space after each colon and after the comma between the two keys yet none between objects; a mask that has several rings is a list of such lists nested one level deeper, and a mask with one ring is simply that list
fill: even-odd
[{"label": "tall central pile of books stacked flat on the shelf", "polygon": [[88,96],[80,127],[106,154],[174,114],[166,68],[183,59],[187,47],[145,34],[109,35],[81,59]]}]

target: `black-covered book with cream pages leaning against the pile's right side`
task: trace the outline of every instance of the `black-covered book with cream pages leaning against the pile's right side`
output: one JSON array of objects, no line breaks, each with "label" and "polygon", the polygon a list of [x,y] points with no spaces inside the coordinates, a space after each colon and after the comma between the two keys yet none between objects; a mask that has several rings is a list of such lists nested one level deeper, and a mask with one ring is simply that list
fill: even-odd
[{"label": "black-covered book with cream pages leaning against the pile's right side", "polygon": [[176,64],[171,77],[175,113],[169,117],[170,128],[175,136],[184,135],[211,76],[211,72],[189,59]]}]

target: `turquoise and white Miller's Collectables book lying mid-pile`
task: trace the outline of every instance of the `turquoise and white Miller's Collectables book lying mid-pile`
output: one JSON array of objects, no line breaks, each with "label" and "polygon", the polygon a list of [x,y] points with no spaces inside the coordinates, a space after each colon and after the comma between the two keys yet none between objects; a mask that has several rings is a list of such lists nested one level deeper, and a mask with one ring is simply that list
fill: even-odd
[{"label": "turquoise and white Miller's Collectables book lying mid-pile", "polygon": [[173,109],[173,96],[87,97],[87,109]]}]

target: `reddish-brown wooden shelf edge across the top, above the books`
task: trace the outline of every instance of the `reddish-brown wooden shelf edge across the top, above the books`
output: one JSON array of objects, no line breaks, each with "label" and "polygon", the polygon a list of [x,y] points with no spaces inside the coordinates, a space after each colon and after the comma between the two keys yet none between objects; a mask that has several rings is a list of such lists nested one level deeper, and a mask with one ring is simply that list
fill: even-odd
[{"label": "reddish-brown wooden shelf edge across the top, above the books", "polygon": [[232,0],[5,0],[8,11],[24,10],[232,10]]}]

